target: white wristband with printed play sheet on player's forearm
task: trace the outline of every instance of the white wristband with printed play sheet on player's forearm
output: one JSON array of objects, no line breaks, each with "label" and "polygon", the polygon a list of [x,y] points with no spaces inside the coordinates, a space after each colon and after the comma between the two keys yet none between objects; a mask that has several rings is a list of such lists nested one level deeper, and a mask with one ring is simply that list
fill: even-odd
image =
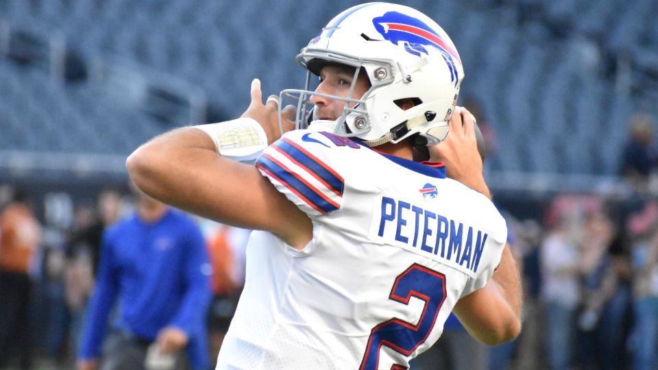
[{"label": "white wristband with printed play sheet on player's forearm", "polygon": [[252,162],[267,148],[263,127],[251,118],[193,126],[215,142],[217,153],[239,162]]}]

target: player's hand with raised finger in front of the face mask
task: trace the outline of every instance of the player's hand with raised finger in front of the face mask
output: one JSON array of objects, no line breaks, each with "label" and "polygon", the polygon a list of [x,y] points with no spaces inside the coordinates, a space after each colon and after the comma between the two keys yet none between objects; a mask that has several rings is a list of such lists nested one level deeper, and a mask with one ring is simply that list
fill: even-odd
[{"label": "player's hand with raised finger in front of the face mask", "polygon": [[[263,104],[263,93],[260,92],[260,80],[252,81],[252,102],[249,108],[242,114],[243,117],[255,119],[260,123],[267,135],[267,144],[274,143],[281,137],[279,127],[279,97],[270,95]],[[289,132],[295,129],[295,106],[286,106],[281,111],[281,121],[283,132]]]}]

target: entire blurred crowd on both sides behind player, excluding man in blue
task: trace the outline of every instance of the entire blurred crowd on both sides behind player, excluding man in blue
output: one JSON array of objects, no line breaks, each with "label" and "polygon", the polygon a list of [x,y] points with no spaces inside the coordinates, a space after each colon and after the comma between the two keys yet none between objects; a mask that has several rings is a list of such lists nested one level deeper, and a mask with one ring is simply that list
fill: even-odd
[{"label": "entire blurred crowd on both sides behind player, excluding man in blue", "polygon": [[[489,150],[495,136],[479,121]],[[658,369],[655,119],[637,114],[620,158],[627,191],[555,193],[528,219],[500,207],[522,266],[524,330],[486,347],[449,319],[417,369]],[[73,369],[104,230],[134,210],[127,187],[97,199],[30,199],[0,184],[0,369]],[[244,282],[248,230],[195,218],[212,267],[208,356],[217,356]]]}]

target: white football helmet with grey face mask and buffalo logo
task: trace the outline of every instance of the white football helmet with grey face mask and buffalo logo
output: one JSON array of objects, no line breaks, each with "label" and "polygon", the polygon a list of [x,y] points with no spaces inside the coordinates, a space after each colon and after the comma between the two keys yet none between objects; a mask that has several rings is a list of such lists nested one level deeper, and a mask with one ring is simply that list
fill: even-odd
[{"label": "white football helmet with grey face mask and buffalo logo", "polygon": [[[416,133],[429,145],[446,138],[464,77],[448,34],[422,12],[392,3],[365,3],[338,14],[302,49],[297,62],[307,69],[306,87],[280,94],[280,101],[297,99],[297,128],[310,123],[371,146],[398,143]],[[349,97],[310,90],[311,75],[324,64],[356,68]],[[356,77],[364,72],[371,87],[363,97],[352,97]],[[343,114],[336,121],[318,121],[313,95],[347,102]],[[412,99],[415,106],[402,110],[395,103],[400,99]]]}]

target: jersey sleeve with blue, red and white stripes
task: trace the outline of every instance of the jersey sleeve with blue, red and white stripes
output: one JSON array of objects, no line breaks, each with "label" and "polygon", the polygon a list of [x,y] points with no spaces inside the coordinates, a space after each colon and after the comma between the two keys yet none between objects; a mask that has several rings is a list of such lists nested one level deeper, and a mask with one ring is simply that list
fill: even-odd
[{"label": "jersey sleeve with blue, red and white stripes", "polygon": [[332,147],[306,130],[284,134],[256,160],[256,167],[310,217],[339,210],[345,181],[332,165]]}]

